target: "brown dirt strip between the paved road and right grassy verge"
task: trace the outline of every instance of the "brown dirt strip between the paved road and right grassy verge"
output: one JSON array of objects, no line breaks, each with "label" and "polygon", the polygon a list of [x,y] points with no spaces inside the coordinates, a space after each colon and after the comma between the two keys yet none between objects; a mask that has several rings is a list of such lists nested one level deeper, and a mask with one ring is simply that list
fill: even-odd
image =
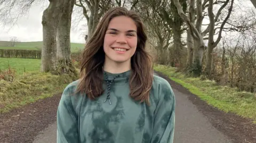
[{"label": "brown dirt strip between the paved road and right grassy verge", "polygon": [[208,105],[189,90],[179,85],[161,72],[156,72],[159,76],[169,81],[172,88],[186,94],[189,100],[196,105],[201,112],[211,122],[213,127],[221,131],[230,139],[234,139],[234,143],[253,143],[256,142],[256,124],[250,119],[244,119],[234,113],[225,113],[219,111],[218,108]]}]

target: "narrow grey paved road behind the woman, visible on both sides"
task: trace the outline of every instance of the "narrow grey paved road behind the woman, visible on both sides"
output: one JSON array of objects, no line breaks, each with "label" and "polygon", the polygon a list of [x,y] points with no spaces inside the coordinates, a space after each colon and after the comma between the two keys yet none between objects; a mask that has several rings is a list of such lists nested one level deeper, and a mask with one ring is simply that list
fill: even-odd
[{"label": "narrow grey paved road behind the woman, visible on both sides", "polygon": [[[231,143],[198,112],[187,95],[173,89],[176,97],[174,143]],[[39,134],[34,143],[55,143],[56,123]]]}]

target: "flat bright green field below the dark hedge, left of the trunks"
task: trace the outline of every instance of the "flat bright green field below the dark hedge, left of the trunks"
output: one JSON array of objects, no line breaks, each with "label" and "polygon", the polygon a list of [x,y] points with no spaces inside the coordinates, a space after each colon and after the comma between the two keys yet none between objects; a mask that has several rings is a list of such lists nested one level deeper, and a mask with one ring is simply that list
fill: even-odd
[{"label": "flat bright green field below the dark hedge, left of the trunks", "polygon": [[8,62],[11,69],[15,69],[18,76],[22,75],[24,70],[25,72],[39,71],[41,66],[41,60],[37,59],[0,57],[0,69],[7,70],[9,68]]}]

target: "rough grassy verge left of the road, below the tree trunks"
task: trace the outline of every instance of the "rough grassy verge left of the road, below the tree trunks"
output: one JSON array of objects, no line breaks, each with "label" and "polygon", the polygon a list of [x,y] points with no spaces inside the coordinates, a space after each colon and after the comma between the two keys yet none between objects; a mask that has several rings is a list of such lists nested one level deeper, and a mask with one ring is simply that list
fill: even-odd
[{"label": "rough grassy verge left of the road, below the tree trunks", "polygon": [[77,77],[30,72],[18,81],[0,81],[0,113],[59,94]]}]

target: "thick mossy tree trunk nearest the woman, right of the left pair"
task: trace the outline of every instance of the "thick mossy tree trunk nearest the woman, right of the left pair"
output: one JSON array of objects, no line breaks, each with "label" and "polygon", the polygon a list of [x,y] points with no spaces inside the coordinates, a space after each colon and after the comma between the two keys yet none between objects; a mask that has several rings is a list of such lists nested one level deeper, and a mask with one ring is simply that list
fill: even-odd
[{"label": "thick mossy tree trunk nearest the woman, right of the left pair", "polygon": [[74,72],[75,68],[70,60],[70,27],[71,27],[71,14],[75,5],[75,0],[65,0],[63,7],[63,14],[59,22],[58,35],[57,35],[57,62],[58,73]]}]

